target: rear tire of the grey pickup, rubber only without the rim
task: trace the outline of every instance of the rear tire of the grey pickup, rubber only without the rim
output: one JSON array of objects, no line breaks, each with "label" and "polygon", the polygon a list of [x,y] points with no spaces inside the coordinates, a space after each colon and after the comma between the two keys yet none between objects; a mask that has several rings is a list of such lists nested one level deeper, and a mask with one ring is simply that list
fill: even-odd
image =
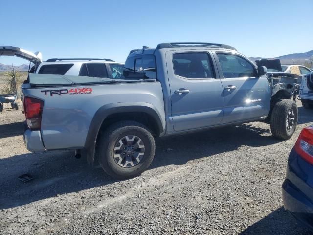
[{"label": "rear tire of the grey pickup, rubber only without the rim", "polygon": [[[141,161],[125,168],[114,159],[114,147],[124,136],[135,135],[144,143]],[[121,121],[108,127],[96,143],[96,158],[103,170],[115,179],[128,179],[140,175],[151,164],[156,150],[155,140],[147,127],[135,121]]]}]

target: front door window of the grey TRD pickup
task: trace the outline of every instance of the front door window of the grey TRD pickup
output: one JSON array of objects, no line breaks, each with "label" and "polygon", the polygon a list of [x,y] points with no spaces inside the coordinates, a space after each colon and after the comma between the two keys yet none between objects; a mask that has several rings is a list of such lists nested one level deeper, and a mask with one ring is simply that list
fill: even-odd
[{"label": "front door window of the grey TRD pickup", "polygon": [[254,77],[254,67],[238,55],[217,54],[224,78]]}]

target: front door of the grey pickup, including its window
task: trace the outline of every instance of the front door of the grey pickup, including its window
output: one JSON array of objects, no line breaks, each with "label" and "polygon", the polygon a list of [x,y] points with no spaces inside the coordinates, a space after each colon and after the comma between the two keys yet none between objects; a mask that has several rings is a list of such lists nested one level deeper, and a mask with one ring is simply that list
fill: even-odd
[{"label": "front door of the grey pickup, including its window", "polygon": [[270,108],[267,77],[257,76],[256,66],[239,54],[216,52],[224,92],[222,123],[265,117]]}]

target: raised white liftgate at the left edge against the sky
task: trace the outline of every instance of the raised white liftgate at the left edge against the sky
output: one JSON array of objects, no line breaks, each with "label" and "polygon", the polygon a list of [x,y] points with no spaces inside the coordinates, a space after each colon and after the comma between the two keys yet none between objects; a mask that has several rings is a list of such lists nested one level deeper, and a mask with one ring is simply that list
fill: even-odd
[{"label": "raised white liftgate at the left edge against the sky", "polygon": [[0,46],[0,56],[17,56],[28,60],[34,64],[38,64],[42,62],[42,54],[41,52],[29,52],[19,47],[12,47],[12,46]]}]

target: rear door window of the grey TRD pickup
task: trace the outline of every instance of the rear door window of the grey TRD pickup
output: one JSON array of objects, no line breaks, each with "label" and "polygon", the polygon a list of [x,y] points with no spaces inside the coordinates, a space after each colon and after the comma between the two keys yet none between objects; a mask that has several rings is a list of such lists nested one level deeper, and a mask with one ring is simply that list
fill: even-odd
[{"label": "rear door window of the grey TRD pickup", "polygon": [[173,54],[173,67],[175,74],[181,77],[214,77],[209,54],[205,52]]}]

